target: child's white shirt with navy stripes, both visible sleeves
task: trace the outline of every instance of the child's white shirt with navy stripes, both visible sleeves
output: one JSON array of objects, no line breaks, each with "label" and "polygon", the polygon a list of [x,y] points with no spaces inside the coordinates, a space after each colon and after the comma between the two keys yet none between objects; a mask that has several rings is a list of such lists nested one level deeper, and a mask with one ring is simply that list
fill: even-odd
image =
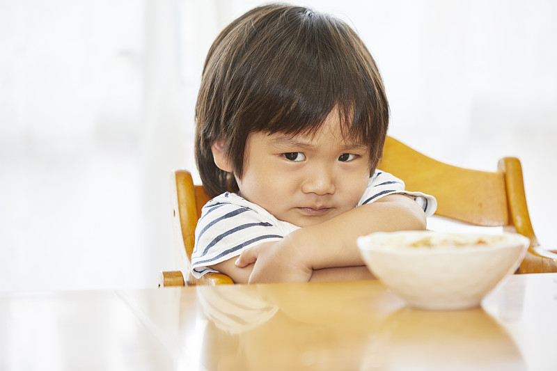
[{"label": "child's white shirt with navy stripes, both visible sleeves", "polygon": [[[376,170],[370,177],[356,207],[372,203],[389,194],[405,194],[418,202],[426,216],[437,208],[433,196],[405,191],[402,180]],[[244,248],[277,241],[299,227],[276,219],[259,205],[237,194],[226,192],[204,207],[196,227],[196,243],[191,254],[191,273],[196,278],[214,271],[207,267],[240,255]]]}]

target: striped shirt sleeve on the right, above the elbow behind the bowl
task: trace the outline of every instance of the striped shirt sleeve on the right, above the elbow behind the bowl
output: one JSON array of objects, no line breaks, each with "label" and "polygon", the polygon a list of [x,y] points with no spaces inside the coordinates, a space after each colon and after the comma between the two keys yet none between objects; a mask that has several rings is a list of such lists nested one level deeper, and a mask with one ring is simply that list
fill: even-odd
[{"label": "striped shirt sleeve on the right, above the elbow behind the bowl", "polygon": [[437,200],[433,196],[422,192],[407,191],[405,190],[405,182],[381,170],[376,170],[370,177],[368,187],[356,206],[372,203],[389,194],[404,194],[414,199],[425,212],[425,216],[432,216],[437,210]]}]

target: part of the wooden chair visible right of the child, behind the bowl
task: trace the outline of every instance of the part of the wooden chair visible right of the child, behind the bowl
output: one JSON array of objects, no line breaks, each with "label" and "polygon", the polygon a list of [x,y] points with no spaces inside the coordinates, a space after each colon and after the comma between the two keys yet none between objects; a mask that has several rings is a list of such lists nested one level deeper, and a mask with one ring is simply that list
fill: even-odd
[{"label": "part of the wooden chair visible right of the child, behind the bowl", "polygon": [[437,198],[435,214],[474,226],[503,226],[528,237],[531,246],[521,273],[557,271],[557,254],[535,237],[519,159],[504,157],[493,172],[444,164],[387,137],[377,168],[402,179],[409,191]]}]

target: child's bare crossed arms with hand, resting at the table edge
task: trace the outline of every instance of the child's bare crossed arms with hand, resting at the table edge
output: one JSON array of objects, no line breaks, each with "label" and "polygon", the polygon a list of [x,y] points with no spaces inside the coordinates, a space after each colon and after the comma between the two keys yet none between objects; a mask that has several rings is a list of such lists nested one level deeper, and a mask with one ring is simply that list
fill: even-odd
[{"label": "child's bare crossed arms with hand, resting at the table edge", "polygon": [[235,283],[346,281],[372,278],[356,238],[371,232],[424,230],[425,214],[402,194],[384,196],[276,242],[247,248],[211,268]]}]

